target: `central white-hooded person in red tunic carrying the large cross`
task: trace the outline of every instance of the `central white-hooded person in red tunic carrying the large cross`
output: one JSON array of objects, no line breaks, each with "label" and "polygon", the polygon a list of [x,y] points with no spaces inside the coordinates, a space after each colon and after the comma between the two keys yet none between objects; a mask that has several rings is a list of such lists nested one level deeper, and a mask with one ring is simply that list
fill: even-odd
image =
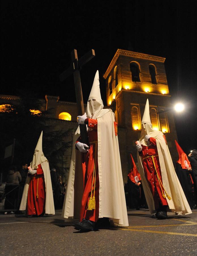
[{"label": "central white-hooded person in red tunic carrying the large cross", "polygon": [[112,110],[103,109],[98,71],[86,113],[78,116],[78,124],[87,125],[88,145],[81,142],[78,127],[62,216],[79,217],[75,226],[79,230],[94,230],[99,218],[109,218],[115,226],[128,226],[117,123]]}]

